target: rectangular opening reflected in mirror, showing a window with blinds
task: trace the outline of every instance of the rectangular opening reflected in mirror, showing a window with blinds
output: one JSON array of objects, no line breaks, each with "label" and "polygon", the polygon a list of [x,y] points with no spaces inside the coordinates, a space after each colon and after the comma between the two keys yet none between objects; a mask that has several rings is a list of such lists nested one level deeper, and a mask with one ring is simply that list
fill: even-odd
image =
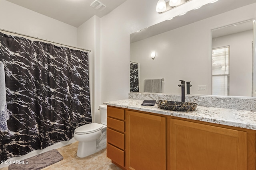
[{"label": "rectangular opening reflected in mirror, showing a window with blinds", "polygon": [[253,96],[253,21],[212,30],[212,94]]}]

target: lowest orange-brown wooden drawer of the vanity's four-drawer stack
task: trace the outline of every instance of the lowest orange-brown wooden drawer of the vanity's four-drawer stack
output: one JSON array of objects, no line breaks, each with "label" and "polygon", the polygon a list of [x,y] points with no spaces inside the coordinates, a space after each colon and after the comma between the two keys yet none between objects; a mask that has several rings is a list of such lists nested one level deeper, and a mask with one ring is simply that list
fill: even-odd
[{"label": "lowest orange-brown wooden drawer of the vanity's four-drawer stack", "polygon": [[124,167],[124,151],[107,143],[107,157]]}]

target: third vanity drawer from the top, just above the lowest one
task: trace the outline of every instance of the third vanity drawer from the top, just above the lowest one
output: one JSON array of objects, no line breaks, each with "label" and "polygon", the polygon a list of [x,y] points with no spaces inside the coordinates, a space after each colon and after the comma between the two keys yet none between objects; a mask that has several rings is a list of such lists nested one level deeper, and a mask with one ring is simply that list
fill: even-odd
[{"label": "third vanity drawer from the top, just above the lowest one", "polygon": [[107,129],[107,142],[124,150],[124,134],[123,133],[119,133],[112,129]]}]

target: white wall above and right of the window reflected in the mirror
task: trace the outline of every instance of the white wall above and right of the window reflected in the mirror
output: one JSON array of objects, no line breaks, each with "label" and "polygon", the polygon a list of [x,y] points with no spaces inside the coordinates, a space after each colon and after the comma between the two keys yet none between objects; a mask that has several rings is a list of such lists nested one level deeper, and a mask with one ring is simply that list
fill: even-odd
[{"label": "white wall above and right of the window reflected in the mirror", "polygon": [[252,30],[212,40],[212,48],[230,47],[230,96],[252,95],[252,41]]}]

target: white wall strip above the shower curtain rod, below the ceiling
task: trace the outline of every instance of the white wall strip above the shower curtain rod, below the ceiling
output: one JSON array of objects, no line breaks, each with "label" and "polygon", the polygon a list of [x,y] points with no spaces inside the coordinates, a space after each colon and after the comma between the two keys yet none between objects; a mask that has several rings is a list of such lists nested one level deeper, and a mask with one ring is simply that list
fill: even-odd
[{"label": "white wall strip above the shower curtain rod, below the ceiling", "polygon": [[0,29],[77,46],[77,28],[66,23],[6,0],[0,0],[0,16]]}]

